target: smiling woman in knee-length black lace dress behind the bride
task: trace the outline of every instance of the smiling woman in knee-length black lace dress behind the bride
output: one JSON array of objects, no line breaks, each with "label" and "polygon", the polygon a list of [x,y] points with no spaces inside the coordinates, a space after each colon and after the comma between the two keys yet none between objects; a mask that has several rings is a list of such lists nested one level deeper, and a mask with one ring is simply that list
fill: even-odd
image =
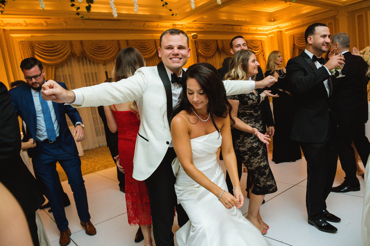
[{"label": "smiling woman in knee-length black lace dress behind the bride", "polygon": [[[225,75],[225,79],[253,79],[258,73],[258,67],[259,63],[253,51],[240,50],[235,53],[230,63],[230,71]],[[247,167],[251,177],[247,219],[262,234],[266,234],[269,226],[263,222],[259,207],[265,194],[274,193],[277,191],[277,187],[269,166],[266,144],[260,141],[255,134],[250,133],[248,127],[262,131],[260,103],[268,96],[277,97],[277,95],[272,95],[269,90],[265,90],[261,94],[253,91],[248,94],[228,96],[232,105],[231,116],[235,120],[233,127],[236,128],[233,135],[235,155]]]}]

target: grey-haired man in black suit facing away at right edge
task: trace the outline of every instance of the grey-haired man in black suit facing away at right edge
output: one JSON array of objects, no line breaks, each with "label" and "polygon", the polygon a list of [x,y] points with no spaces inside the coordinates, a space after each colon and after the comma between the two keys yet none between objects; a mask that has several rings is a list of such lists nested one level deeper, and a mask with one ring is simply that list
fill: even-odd
[{"label": "grey-haired man in black suit facing away at right edge", "polygon": [[344,77],[333,77],[334,116],[338,124],[339,160],[346,173],[344,182],[332,188],[332,192],[359,191],[360,182],[356,177],[356,159],[351,143],[366,165],[370,153],[370,143],[365,136],[365,123],[368,119],[367,109],[367,64],[361,56],[349,51],[351,39],[345,32],[332,36],[332,52],[342,52],[346,65],[342,69]]}]

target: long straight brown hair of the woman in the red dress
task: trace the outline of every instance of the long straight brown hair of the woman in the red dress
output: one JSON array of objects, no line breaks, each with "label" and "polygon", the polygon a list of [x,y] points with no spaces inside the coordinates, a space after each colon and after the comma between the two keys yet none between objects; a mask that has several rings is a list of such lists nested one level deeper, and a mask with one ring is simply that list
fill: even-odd
[{"label": "long straight brown hair of the woman in the red dress", "polygon": [[[113,69],[113,81],[127,79],[128,77],[134,75],[136,70],[144,66],[145,60],[141,53],[135,48],[126,47],[118,52]],[[132,112],[136,112],[139,116],[138,106],[135,101],[132,101],[129,104],[129,109]]]}]

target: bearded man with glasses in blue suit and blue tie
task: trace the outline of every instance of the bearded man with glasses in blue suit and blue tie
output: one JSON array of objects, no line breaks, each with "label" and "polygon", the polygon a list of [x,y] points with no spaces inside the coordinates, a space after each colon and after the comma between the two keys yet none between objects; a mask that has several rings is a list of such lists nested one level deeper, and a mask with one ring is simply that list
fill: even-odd
[{"label": "bearded man with glasses in blue suit and blue tie", "polygon": [[[73,191],[77,213],[87,235],[95,235],[95,227],[90,222],[84,180],[81,173],[81,160],[74,138],[80,142],[84,138],[84,125],[78,111],[70,105],[52,103],[41,97],[45,70],[36,58],[22,60],[20,67],[27,84],[9,91],[11,102],[27,125],[27,135],[36,142],[36,147],[28,150],[35,173],[40,176],[45,188],[55,223],[59,229],[61,246],[71,242],[71,231],[65,217],[63,197],[58,181],[56,163],[59,162],[68,177]],[[67,88],[64,83],[59,83]],[[65,114],[75,125],[72,136]]]}]

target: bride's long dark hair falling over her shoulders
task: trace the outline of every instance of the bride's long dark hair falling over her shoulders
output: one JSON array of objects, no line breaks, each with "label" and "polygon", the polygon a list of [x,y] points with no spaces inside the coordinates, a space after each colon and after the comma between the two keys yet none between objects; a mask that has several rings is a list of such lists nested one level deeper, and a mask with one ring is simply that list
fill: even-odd
[{"label": "bride's long dark hair falling over her shoulders", "polygon": [[215,122],[216,117],[226,118],[229,114],[232,124],[233,121],[231,113],[231,105],[226,98],[226,90],[223,86],[223,82],[217,69],[209,63],[196,63],[191,65],[184,77],[182,78],[182,92],[179,96],[179,103],[172,112],[172,118],[175,117],[180,111],[185,110],[190,113],[192,110],[192,104],[188,100],[188,95],[186,93],[187,86],[186,82],[189,78],[195,79],[202,90],[208,97],[208,112],[211,115],[211,120],[216,130],[220,132]]}]

